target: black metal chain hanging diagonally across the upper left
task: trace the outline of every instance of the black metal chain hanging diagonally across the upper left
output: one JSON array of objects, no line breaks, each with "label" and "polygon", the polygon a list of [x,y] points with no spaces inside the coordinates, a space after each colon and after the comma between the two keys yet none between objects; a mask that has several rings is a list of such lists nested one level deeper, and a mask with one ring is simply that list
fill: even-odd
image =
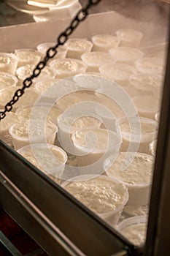
[{"label": "black metal chain hanging diagonally across the upper left", "polygon": [[55,54],[58,52],[57,48],[60,45],[64,45],[67,39],[69,39],[69,36],[74,31],[74,29],[77,28],[79,23],[81,23],[83,20],[85,20],[85,18],[87,18],[88,10],[90,9],[90,7],[98,4],[100,1],[101,0],[88,0],[88,3],[86,4],[86,6],[83,7],[79,12],[77,12],[77,15],[74,17],[74,19],[70,23],[70,26],[66,28],[65,31],[63,31],[61,34],[59,34],[57,38],[57,44],[47,50],[45,58],[36,65],[35,69],[32,72],[32,75],[23,81],[23,87],[15,91],[15,94],[12,97],[12,100],[7,102],[7,105],[5,105],[4,110],[0,112],[0,121],[6,116],[6,112],[9,112],[12,110],[12,106],[16,102],[18,102],[18,99],[20,99],[20,97],[22,97],[22,95],[25,92],[25,89],[31,86],[31,84],[33,83],[32,80],[34,78],[37,78],[41,74],[42,69],[44,69],[45,66],[47,65],[47,61],[49,61],[49,59],[52,59],[55,56]]}]

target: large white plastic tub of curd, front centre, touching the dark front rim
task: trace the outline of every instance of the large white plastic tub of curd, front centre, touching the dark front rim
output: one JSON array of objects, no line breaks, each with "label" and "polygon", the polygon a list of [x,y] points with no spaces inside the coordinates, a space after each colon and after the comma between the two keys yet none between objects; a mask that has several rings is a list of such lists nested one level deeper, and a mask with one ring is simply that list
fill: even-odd
[{"label": "large white plastic tub of curd, front centre, touching the dark front rim", "polygon": [[128,189],[107,176],[77,176],[61,186],[112,225],[128,201]]}]

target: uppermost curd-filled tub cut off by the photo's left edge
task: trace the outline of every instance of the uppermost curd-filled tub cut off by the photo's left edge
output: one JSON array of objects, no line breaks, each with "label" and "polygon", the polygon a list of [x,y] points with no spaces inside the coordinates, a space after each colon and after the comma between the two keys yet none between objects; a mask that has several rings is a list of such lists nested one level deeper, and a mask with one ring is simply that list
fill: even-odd
[{"label": "uppermost curd-filled tub cut off by the photo's left edge", "polygon": [[0,53],[0,72],[7,72],[15,75],[18,65],[18,58],[12,53]]}]

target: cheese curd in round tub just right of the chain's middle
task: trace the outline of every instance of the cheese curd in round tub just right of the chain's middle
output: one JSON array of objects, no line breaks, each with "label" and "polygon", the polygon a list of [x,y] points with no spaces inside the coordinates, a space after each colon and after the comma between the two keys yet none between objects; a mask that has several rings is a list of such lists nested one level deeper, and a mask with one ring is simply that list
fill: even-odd
[{"label": "cheese curd in round tub just right of the chain's middle", "polygon": [[55,59],[50,62],[50,68],[55,72],[55,78],[68,78],[72,75],[84,73],[87,69],[82,61],[77,59]]}]

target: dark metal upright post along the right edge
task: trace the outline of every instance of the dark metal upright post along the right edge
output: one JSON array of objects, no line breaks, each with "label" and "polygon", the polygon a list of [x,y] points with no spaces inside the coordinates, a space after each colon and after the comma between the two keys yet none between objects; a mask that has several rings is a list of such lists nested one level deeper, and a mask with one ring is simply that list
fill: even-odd
[{"label": "dark metal upright post along the right edge", "polygon": [[[169,20],[170,23],[170,20]],[[170,24],[169,24],[170,25]],[[169,26],[170,28],[170,26]],[[170,42],[170,31],[169,31]],[[150,214],[147,226],[145,255],[170,253],[170,44],[166,62],[161,121],[152,181]]]}]

